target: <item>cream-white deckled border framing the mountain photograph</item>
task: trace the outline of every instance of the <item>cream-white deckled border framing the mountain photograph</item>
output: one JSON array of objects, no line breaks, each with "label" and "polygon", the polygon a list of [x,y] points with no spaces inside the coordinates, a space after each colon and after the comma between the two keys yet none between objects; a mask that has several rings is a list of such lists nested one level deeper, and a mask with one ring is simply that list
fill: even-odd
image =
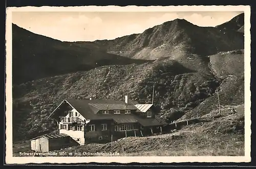
[{"label": "cream-white deckled border framing the mountain photograph", "polygon": [[[12,157],[12,12],[153,12],[153,11],[244,11],[245,14],[245,156],[180,157]],[[86,7],[8,7],[6,10],[6,163],[171,163],[171,162],[250,162],[250,6],[86,6]]]}]

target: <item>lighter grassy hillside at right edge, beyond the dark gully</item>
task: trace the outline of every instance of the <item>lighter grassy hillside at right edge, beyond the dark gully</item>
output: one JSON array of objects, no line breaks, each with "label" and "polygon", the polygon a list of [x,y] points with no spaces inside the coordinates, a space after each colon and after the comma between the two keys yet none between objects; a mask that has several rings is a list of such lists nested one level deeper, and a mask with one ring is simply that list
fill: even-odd
[{"label": "lighter grassy hillside at right edge, beyond the dark gully", "polygon": [[[244,103],[244,51],[221,52],[209,56],[209,67],[217,79],[222,79],[219,90],[221,106]],[[203,115],[218,108],[217,93],[213,93],[182,119]]]}]

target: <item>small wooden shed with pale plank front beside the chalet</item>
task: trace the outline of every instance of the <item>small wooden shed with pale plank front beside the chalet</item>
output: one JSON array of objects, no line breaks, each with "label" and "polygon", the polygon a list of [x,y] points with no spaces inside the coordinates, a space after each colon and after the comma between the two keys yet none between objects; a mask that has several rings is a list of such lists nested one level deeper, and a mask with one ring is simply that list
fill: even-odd
[{"label": "small wooden shed with pale plank front beside the chalet", "polygon": [[72,138],[67,134],[42,135],[30,139],[31,150],[35,152],[49,152],[73,146]]}]

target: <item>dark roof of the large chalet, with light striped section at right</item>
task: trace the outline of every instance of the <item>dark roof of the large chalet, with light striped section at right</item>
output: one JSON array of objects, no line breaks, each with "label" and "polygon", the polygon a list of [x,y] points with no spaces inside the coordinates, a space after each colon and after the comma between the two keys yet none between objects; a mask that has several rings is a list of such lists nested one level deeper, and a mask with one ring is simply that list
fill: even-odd
[{"label": "dark roof of the large chalet, with light striped section at right", "polygon": [[[114,120],[118,124],[140,123],[142,126],[165,125],[165,122],[161,122],[161,120],[158,120],[155,118],[143,118],[134,114],[97,114],[99,110],[125,110],[126,109],[126,110],[137,110],[137,112],[146,112],[148,109],[150,109],[153,106],[153,104],[138,104],[138,102],[129,102],[129,104],[126,104],[124,101],[75,100],[75,99],[66,99],[64,103],[66,102],[71,107],[76,109],[82,116],[90,120],[109,119],[109,120]],[[53,113],[54,112],[52,112],[52,114]]]}]

